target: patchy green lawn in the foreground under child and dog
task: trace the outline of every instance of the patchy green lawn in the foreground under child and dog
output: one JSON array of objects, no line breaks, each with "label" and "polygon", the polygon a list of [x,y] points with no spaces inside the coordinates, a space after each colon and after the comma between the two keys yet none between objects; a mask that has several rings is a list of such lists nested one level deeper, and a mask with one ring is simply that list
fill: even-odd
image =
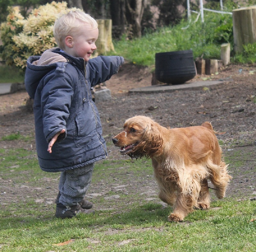
[{"label": "patchy green lawn in the foreground under child and dog", "polygon": [[[228,161],[233,162],[232,157]],[[54,204],[35,202],[38,195],[33,188],[42,187],[45,196],[50,192],[47,190],[55,189],[59,175],[42,172],[32,151],[0,149],[1,251],[256,250],[256,201],[214,201],[211,209],[196,210],[183,223],[170,223],[167,216],[171,207],[146,202],[145,195],[132,191],[132,180],[141,183],[142,189],[148,186],[148,180],[142,178],[148,175],[153,179],[150,160],[98,162],[93,173],[94,187],[110,187],[118,177],[130,189],[127,195],[120,192],[118,201],[107,202],[101,197],[98,204],[111,204],[112,208],[97,210],[94,216],[61,220],[54,218]],[[4,192],[24,186],[30,188],[27,193],[14,194],[12,201],[6,202]],[[110,190],[109,195],[113,194]],[[70,239],[74,241],[65,246],[54,245]]]}]

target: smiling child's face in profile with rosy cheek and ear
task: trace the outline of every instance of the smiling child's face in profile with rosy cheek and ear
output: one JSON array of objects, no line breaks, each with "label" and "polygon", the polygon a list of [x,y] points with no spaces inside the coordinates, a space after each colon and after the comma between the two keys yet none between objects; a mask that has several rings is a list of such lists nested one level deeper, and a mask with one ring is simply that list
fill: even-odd
[{"label": "smiling child's face in profile with rosy cheek and ear", "polygon": [[89,30],[88,26],[83,26],[77,35],[66,37],[66,52],[73,57],[84,58],[85,61],[97,49],[95,42],[99,36],[99,29]]}]

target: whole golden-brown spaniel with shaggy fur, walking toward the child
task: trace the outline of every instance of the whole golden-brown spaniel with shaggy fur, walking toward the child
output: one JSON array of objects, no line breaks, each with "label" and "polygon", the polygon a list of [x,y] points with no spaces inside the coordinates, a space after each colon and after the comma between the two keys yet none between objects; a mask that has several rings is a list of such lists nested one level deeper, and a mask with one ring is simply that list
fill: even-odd
[{"label": "whole golden-brown spaniel with shaggy fur, walking toward the child", "polygon": [[159,198],[173,206],[169,221],[182,221],[193,207],[208,209],[212,181],[216,196],[225,197],[231,176],[211,123],[165,128],[145,116],[129,118],[112,139],[123,155],[152,159]]}]

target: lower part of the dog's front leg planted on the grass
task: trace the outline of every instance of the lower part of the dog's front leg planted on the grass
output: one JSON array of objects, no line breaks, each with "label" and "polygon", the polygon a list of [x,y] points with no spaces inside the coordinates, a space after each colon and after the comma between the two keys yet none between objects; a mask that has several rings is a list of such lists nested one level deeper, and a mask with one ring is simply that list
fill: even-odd
[{"label": "lower part of the dog's front leg planted on the grass", "polygon": [[178,192],[173,212],[168,216],[168,221],[182,221],[191,211],[193,211],[192,198],[189,195]]}]

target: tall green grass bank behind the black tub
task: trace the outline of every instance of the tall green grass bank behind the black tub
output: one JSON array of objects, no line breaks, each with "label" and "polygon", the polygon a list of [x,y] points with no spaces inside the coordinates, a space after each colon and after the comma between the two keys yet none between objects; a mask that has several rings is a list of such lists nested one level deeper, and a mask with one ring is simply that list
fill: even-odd
[{"label": "tall green grass bank behind the black tub", "polygon": [[[196,15],[192,14],[192,19]],[[231,38],[223,34],[232,34],[232,16],[206,12],[205,22],[188,23],[182,20],[173,27],[158,28],[155,32],[145,34],[141,38],[114,42],[115,52],[109,54],[122,55],[137,65],[153,66],[155,54],[159,52],[193,50],[194,58],[203,57],[220,59],[220,45]],[[224,24],[226,26],[224,26]],[[223,29],[221,30],[221,28]],[[186,28],[187,27],[187,28]],[[227,27],[230,29],[226,31]],[[221,38],[223,37],[223,41]],[[226,41],[225,41],[226,40]],[[233,40],[233,38],[232,38]],[[231,47],[232,47],[232,41]],[[233,49],[233,47],[232,47]]]}]

